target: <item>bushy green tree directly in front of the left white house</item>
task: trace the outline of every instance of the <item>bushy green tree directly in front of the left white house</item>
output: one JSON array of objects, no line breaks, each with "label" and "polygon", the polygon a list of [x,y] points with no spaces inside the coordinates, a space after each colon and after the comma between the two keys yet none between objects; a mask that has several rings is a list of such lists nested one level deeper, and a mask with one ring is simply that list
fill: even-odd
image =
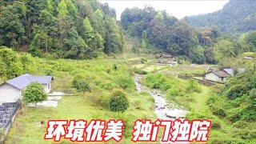
[{"label": "bushy green tree directly in front of the left white house", "polygon": [[47,95],[43,86],[38,82],[32,82],[29,86],[26,87],[26,90],[22,91],[23,100],[28,103],[42,102],[46,100]]}]

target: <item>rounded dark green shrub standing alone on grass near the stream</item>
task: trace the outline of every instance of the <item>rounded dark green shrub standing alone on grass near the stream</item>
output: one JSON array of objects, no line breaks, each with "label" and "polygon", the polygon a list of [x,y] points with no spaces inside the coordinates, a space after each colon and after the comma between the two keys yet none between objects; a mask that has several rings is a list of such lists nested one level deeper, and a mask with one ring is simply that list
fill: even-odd
[{"label": "rounded dark green shrub standing alone on grass near the stream", "polygon": [[114,112],[124,112],[128,109],[128,98],[123,90],[114,90],[110,96],[110,110]]}]

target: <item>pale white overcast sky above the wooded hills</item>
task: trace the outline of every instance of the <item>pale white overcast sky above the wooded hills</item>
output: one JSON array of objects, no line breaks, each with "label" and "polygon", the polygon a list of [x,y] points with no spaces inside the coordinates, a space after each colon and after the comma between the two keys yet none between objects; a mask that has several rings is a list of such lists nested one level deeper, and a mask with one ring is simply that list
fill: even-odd
[{"label": "pale white overcast sky above the wooded hills", "polygon": [[155,10],[166,10],[168,14],[180,19],[185,16],[206,14],[221,10],[229,0],[99,0],[99,2],[108,2],[109,6],[116,10],[117,19],[119,20],[122,11],[125,10],[126,7],[133,8],[137,6],[138,8],[143,8],[145,6],[152,6]]}]

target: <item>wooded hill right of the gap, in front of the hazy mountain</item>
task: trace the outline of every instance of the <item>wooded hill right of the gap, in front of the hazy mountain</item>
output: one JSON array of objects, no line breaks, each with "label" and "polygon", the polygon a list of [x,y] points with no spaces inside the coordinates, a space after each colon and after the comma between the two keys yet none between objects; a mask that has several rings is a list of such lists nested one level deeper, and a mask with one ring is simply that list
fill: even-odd
[{"label": "wooded hill right of the gap, in front of the hazy mountain", "polygon": [[139,39],[139,50],[154,54],[166,52],[192,63],[222,62],[256,50],[254,31],[240,36],[223,35],[214,26],[194,28],[186,19],[178,20],[153,7],[127,8],[122,13],[121,24],[126,34]]}]

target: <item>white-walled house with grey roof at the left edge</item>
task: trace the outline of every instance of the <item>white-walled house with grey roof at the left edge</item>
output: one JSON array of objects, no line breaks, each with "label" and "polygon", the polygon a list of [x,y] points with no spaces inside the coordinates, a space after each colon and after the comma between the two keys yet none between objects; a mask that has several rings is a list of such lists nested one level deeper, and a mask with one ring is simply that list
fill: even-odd
[{"label": "white-walled house with grey roof at the left edge", "polygon": [[34,76],[31,74],[23,74],[17,78],[0,85],[0,103],[3,102],[17,102],[22,98],[22,90],[26,89],[31,82],[38,82],[42,84],[46,94],[50,93],[51,82],[54,80],[52,76]]}]

